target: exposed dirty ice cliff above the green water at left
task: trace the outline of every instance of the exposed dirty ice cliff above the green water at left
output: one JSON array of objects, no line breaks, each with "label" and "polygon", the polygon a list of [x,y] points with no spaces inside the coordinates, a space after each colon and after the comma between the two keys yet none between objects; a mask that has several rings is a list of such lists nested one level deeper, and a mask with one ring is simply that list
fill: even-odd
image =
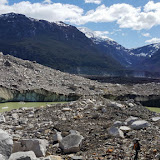
[{"label": "exposed dirty ice cliff above the green water at left", "polygon": [[14,90],[0,87],[0,102],[66,102],[75,101],[80,96],[76,94],[58,94],[44,89]]}]

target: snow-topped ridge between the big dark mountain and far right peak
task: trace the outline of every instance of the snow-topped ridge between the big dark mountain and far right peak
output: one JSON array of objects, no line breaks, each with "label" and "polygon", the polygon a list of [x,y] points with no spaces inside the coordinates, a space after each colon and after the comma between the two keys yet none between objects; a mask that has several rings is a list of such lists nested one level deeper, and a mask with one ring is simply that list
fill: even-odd
[{"label": "snow-topped ridge between the big dark mountain and far right peak", "polygon": [[127,68],[132,66],[135,56],[131,54],[129,49],[124,48],[122,45],[106,36],[98,35],[95,31],[88,28],[79,27],[78,29],[92,40],[101,53],[113,57]]}]

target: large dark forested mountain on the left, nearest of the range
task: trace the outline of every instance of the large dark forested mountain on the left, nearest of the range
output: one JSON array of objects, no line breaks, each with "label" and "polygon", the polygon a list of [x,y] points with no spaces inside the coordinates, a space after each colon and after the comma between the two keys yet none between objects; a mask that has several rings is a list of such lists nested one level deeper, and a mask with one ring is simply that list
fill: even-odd
[{"label": "large dark forested mountain on the left, nearest of the range", "polygon": [[75,74],[104,74],[123,69],[76,27],[22,14],[0,16],[0,51]]}]

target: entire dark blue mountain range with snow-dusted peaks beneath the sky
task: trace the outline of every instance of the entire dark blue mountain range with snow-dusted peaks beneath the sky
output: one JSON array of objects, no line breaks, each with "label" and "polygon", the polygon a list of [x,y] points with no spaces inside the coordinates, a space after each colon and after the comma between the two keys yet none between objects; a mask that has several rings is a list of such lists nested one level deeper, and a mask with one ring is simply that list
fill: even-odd
[{"label": "entire dark blue mountain range with snow-dusted peaks beneath the sky", "polygon": [[160,44],[126,49],[85,28],[15,13],[0,16],[0,51],[75,74],[159,72],[160,67]]}]

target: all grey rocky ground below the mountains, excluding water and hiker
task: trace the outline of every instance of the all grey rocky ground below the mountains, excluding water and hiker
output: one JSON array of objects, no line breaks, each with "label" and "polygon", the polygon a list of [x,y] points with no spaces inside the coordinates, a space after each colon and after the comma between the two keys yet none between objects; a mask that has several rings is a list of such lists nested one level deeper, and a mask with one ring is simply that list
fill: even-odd
[{"label": "all grey rocky ground below the mountains, excluding water and hiker", "polygon": [[[1,160],[141,160],[160,156],[160,83],[99,83],[0,55],[0,100],[71,101],[0,114]],[[147,105],[149,106],[149,105]]]}]

